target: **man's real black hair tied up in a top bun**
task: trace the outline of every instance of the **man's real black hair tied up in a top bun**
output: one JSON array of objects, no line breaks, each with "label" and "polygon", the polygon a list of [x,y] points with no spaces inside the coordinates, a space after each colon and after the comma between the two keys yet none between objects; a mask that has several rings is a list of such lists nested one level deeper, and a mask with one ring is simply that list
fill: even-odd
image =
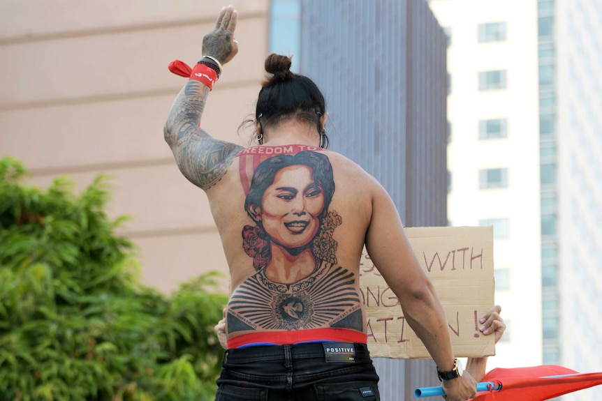
[{"label": "man's real black hair tied up in a top bun", "polygon": [[270,54],[265,71],[270,75],[262,82],[255,118],[261,129],[275,126],[284,119],[298,119],[316,124],[321,135],[320,146],[328,148],[328,137],[321,132],[321,116],[326,112],[324,96],[314,81],[291,72],[291,57]]}]

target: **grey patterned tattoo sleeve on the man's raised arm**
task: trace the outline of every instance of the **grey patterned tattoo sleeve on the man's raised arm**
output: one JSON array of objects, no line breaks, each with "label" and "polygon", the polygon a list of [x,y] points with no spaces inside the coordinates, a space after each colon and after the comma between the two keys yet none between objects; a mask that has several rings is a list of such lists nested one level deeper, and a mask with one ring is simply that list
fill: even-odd
[{"label": "grey patterned tattoo sleeve on the man's raised arm", "polygon": [[166,121],[164,135],[186,179],[208,190],[228,171],[242,146],[212,138],[199,128],[209,88],[191,80],[179,92]]}]

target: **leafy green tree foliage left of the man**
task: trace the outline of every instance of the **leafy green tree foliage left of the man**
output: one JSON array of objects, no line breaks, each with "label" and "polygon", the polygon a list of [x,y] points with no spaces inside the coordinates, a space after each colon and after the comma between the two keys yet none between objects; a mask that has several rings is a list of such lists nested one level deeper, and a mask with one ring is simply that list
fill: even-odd
[{"label": "leafy green tree foliage left of the man", "polygon": [[26,177],[0,160],[0,400],[212,400],[217,273],[170,297],[140,285],[103,176],[80,195]]}]

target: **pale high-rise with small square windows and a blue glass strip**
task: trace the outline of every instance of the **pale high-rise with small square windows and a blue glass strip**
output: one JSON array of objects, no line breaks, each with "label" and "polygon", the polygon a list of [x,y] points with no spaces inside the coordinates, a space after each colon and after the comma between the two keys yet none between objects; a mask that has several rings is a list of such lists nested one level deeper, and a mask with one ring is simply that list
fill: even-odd
[{"label": "pale high-rise with small square windows and a blue glass strip", "polygon": [[508,329],[488,368],[599,372],[602,3],[429,5],[448,34],[448,219],[494,226]]}]

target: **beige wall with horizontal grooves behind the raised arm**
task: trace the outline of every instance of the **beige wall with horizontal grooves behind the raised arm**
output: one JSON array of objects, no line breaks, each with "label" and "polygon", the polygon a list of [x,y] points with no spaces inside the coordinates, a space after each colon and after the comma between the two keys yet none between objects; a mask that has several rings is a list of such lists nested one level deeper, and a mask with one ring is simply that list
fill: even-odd
[{"label": "beige wall with horizontal grooves behind the raised arm", "polygon": [[[227,1],[8,0],[0,2],[0,158],[20,159],[46,186],[68,175],[78,189],[110,175],[108,214],[137,245],[142,279],[169,292],[204,271],[226,273],[207,199],[179,173],[163,123],[185,84],[168,71],[194,63]],[[203,116],[214,137],[252,114],[267,54],[268,0],[240,0],[240,53]]]}]

